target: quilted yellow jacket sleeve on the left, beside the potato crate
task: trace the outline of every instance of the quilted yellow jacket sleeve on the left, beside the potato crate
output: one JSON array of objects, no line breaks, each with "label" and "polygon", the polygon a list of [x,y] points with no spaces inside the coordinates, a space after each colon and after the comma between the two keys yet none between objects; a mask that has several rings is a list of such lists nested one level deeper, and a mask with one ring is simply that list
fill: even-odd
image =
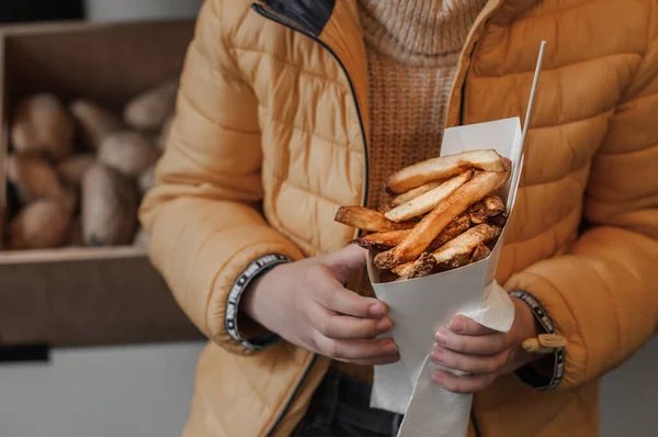
[{"label": "quilted yellow jacket sleeve on the left, beside the potato crate", "polygon": [[302,253],[259,212],[258,103],[225,42],[235,22],[225,24],[222,3],[208,0],[200,13],[171,136],[140,221],[151,237],[151,261],[188,316],[223,347],[250,354],[254,348],[231,330],[236,288]]}]

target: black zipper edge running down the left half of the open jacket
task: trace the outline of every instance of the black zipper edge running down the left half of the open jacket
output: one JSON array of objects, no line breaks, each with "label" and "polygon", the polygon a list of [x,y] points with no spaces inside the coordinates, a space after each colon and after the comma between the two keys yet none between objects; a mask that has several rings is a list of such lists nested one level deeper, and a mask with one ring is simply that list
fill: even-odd
[{"label": "black zipper edge running down the left half of the open jacket", "polygon": [[[295,32],[298,32],[298,33],[300,33],[300,34],[309,37],[310,40],[315,41],[316,43],[318,43],[327,52],[329,52],[329,54],[336,59],[336,61],[338,63],[338,65],[342,69],[343,74],[345,75],[345,78],[348,79],[348,83],[350,85],[350,91],[352,93],[352,99],[354,100],[354,107],[356,109],[356,116],[359,119],[359,126],[361,128],[361,137],[362,137],[362,141],[363,141],[363,156],[364,156],[364,165],[365,165],[364,175],[365,175],[365,177],[364,177],[364,181],[363,181],[363,195],[361,197],[361,204],[363,206],[365,206],[366,201],[367,201],[367,192],[368,192],[368,164],[367,164],[366,135],[365,135],[365,127],[363,125],[363,117],[361,115],[361,108],[359,107],[359,100],[356,99],[356,91],[354,90],[354,83],[352,82],[352,79],[350,78],[350,75],[348,74],[348,69],[345,68],[345,66],[342,63],[342,60],[340,60],[340,58],[338,57],[338,55],[336,54],[336,52],[327,43],[325,43],[322,40],[320,40],[319,37],[317,37],[311,32],[303,29],[302,26],[299,26],[297,23],[293,22],[292,20],[290,20],[287,18],[284,18],[284,16],[281,16],[281,15],[279,15],[279,14],[276,14],[276,13],[268,10],[266,8],[264,8],[263,5],[261,5],[259,3],[253,3],[251,5],[251,8],[257,13],[259,13],[260,15],[262,15],[263,18],[265,18],[268,20],[271,20],[271,21],[274,21],[275,23],[279,23],[279,24],[281,24],[281,25],[283,25],[283,26],[285,26],[287,29],[291,29],[291,30],[293,30]],[[361,234],[361,231],[359,232],[359,234]],[[310,372],[310,369],[315,365],[317,358],[318,358],[318,356],[316,354],[314,354],[313,357],[311,357],[311,359],[310,359],[310,361],[308,362],[308,365],[306,365],[306,368],[304,369],[304,373],[302,374],[302,378],[299,378],[299,381],[297,381],[297,384],[295,385],[295,388],[293,390],[293,393],[291,394],[291,396],[286,401],[286,403],[283,406],[283,410],[279,414],[279,416],[276,416],[276,419],[274,421],[274,423],[272,424],[272,426],[270,427],[270,429],[268,429],[268,432],[265,433],[265,436],[268,436],[268,437],[272,436],[272,433],[274,432],[274,429],[276,429],[276,427],[281,423],[282,418],[285,416],[285,413],[287,412],[288,407],[291,406],[291,403],[293,402],[293,399],[295,399],[295,395],[297,394],[297,392],[302,388],[302,384],[304,383],[304,380],[306,379],[306,377]]]}]

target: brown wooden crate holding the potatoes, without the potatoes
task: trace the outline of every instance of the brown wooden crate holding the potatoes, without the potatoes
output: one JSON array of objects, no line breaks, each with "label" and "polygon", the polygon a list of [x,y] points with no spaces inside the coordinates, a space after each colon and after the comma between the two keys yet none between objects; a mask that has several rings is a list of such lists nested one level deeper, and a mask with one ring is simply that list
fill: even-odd
[{"label": "brown wooden crate holding the potatoes, without the potatoes", "polygon": [[[11,109],[31,93],[87,98],[121,110],[179,76],[193,22],[47,24],[0,34],[0,217]],[[0,231],[5,226],[0,224]],[[0,232],[2,235],[3,232]],[[0,344],[49,346],[201,338],[144,250],[135,247],[0,251]]]}]

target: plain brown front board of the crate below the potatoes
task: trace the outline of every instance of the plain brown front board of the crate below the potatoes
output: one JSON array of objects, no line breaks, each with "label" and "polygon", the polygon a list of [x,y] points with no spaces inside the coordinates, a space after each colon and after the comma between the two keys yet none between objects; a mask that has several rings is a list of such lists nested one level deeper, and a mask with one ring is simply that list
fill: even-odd
[{"label": "plain brown front board of the crate below the potatoes", "polygon": [[201,338],[144,256],[0,265],[2,344]]}]

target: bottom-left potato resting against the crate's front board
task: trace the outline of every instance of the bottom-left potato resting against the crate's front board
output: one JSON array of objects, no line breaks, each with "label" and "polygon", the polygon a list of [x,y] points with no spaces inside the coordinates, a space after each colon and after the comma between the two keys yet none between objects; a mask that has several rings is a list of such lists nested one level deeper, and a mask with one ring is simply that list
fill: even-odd
[{"label": "bottom-left potato resting against the crate's front board", "polygon": [[11,249],[47,249],[66,240],[71,211],[59,202],[43,199],[23,209],[9,223]]}]

